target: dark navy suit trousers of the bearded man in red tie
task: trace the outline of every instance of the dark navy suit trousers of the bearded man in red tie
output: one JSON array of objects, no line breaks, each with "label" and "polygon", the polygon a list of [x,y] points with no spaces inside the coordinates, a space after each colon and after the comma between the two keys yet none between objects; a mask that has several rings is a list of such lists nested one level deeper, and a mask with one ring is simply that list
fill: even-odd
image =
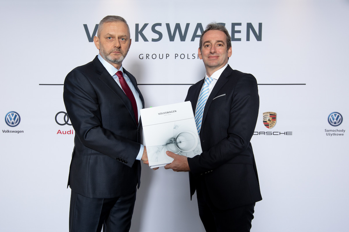
[{"label": "dark navy suit trousers of the bearded man in red tie", "polygon": [[131,227],[136,190],[116,198],[88,198],[72,191],[69,232],[127,232]]}]

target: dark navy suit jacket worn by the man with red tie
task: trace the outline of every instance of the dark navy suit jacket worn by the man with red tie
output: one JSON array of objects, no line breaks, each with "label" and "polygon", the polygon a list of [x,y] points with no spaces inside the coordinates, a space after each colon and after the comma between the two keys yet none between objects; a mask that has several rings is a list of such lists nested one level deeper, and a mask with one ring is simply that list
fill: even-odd
[{"label": "dark navy suit jacket worn by the man with red tie", "polygon": [[[143,97],[134,76],[124,69]],[[90,198],[132,193],[140,184],[140,127],[131,102],[96,56],[68,73],[64,103],[75,130],[68,185]]]}]

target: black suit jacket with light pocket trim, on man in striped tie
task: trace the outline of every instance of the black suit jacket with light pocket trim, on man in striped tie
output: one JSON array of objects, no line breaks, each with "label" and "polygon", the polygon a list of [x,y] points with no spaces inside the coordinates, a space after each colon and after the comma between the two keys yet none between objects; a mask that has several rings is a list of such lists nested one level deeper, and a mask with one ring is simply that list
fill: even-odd
[{"label": "black suit jacket with light pocket trim, on man in striped tie", "polygon": [[[191,101],[194,112],[203,82],[188,90],[186,101]],[[220,209],[262,199],[250,143],[258,110],[256,79],[228,65],[205,105],[200,131],[203,152],[188,158],[191,195],[199,183],[205,183]]]}]

